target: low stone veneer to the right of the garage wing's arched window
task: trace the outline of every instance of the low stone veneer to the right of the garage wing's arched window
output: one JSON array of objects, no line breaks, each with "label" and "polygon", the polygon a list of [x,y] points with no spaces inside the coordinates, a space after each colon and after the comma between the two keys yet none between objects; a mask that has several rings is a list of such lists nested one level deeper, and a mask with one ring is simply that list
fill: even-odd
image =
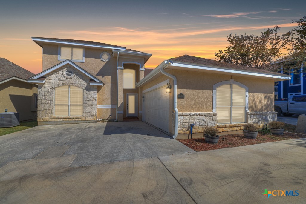
[{"label": "low stone veneer to the right of the garage wing's arched window", "polygon": [[276,114],[277,112],[247,112],[247,121],[262,128],[263,124],[276,121]]}]

